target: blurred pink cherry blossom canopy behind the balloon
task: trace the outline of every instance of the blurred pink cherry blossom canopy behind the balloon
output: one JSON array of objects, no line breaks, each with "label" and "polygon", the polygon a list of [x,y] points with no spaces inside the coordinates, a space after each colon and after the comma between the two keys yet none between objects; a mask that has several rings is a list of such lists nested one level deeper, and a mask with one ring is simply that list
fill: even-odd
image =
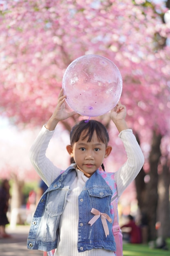
[{"label": "blurred pink cherry blossom canopy behind the balloon", "polygon": [[121,71],[122,101],[132,126],[165,132],[169,46],[158,49],[158,34],[168,37],[170,28],[155,11],[165,12],[162,4],[147,4],[7,1],[0,16],[2,115],[16,124],[42,124],[55,107],[68,64],[84,54],[99,54]]}]

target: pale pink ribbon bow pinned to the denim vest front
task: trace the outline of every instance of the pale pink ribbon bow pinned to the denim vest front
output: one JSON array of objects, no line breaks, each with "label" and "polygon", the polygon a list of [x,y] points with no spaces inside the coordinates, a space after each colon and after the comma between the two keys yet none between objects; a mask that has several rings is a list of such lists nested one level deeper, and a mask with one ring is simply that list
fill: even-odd
[{"label": "pale pink ribbon bow pinned to the denim vest front", "polygon": [[109,230],[108,230],[108,224],[107,224],[106,220],[108,220],[108,222],[112,223],[112,219],[106,213],[101,213],[100,211],[96,210],[95,208],[92,208],[91,213],[95,214],[95,216],[88,222],[88,224],[90,224],[92,226],[95,223],[95,221],[101,216],[104,233],[105,233],[105,236],[107,237],[109,235]]}]

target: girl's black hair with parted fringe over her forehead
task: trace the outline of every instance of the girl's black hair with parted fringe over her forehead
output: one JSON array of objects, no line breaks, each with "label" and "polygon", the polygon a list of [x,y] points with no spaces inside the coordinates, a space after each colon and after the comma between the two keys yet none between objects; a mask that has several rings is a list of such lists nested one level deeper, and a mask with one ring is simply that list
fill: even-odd
[{"label": "girl's black hair with parted fringe over her forehead", "polygon": [[[70,132],[71,146],[73,146],[73,144],[79,140],[82,132],[84,132],[84,137],[82,137],[82,139],[86,139],[88,137],[87,141],[90,142],[92,140],[94,132],[96,132],[99,141],[103,142],[106,146],[108,145],[109,135],[106,127],[99,121],[91,119],[88,121],[82,120],[78,124],[73,126]],[[71,157],[71,163],[75,163],[73,157]],[[102,169],[104,170],[103,164]]]}]

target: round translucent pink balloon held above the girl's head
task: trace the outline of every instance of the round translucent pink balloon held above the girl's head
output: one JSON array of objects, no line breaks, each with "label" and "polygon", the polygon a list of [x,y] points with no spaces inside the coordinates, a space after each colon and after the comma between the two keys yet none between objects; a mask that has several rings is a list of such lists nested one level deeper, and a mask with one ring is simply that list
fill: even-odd
[{"label": "round translucent pink balloon held above the girl's head", "polygon": [[67,67],[62,88],[68,106],[80,115],[96,117],[117,105],[122,92],[122,77],[108,58],[84,55]]}]

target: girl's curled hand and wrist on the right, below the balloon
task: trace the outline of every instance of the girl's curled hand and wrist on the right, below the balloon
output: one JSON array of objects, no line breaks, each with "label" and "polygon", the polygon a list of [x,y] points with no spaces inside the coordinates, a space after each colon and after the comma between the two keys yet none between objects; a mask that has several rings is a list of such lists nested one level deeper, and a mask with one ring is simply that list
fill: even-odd
[{"label": "girl's curled hand and wrist on the right, below the balloon", "polygon": [[120,101],[117,103],[115,108],[113,108],[110,111],[110,117],[112,121],[115,123],[119,132],[121,132],[122,130],[128,129],[128,126],[125,121],[126,107],[122,105]]}]

